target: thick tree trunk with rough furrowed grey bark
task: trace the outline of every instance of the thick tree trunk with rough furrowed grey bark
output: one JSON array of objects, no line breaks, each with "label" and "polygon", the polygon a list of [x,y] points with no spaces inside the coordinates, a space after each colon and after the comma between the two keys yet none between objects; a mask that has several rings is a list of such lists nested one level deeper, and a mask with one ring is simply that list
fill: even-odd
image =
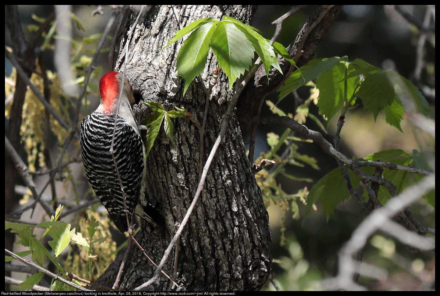
[{"label": "thick tree trunk with rough furrowed grey bark", "polygon": [[[182,26],[206,17],[220,19],[224,14],[249,24],[256,7],[194,5],[177,6],[176,10]],[[126,31],[132,27],[138,14],[134,12],[128,17]],[[129,40],[125,75],[133,92],[140,94],[143,100],[158,101],[166,110],[174,109],[174,105],[184,107],[202,123],[206,96],[201,82],[196,79],[183,97],[183,80],[176,73],[175,61],[182,40],[161,51],[178,29],[171,6],[144,7]],[[124,72],[126,57],[122,48],[126,38],[127,34],[121,42],[115,67],[120,72]],[[202,75],[205,83],[218,66],[212,54],[208,58]],[[216,141],[222,115],[233,92],[233,89],[228,90],[225,76],[220,73],[214,93],[223,103],[219,104],[216,99],[209,101],[203,163],[199,163],[198,128],[186,118],[174,119],[174,143],[161,130],[147,158],[147,194],[165,217],[165,236],[142,223],[136,239],[156,264],[177,229],[175,224],[182,221],[194,197],[199,170]],[[155,269],[136,246],[133,249],[121,289],[133,289],[143,284]],[[98,282],[113,284],[121,256]],[[251,173],[236,116],[229,120],[200,199],[180,237],[176,270],[173,261],[170,256],[163,271],[170,276],[177,273],[175,281],[181,290],[260,290],[267,282],[272,261],[269,218],[260,188]],[[162,275],[147,289],[166,290],[169,285],[170,281]]]}]

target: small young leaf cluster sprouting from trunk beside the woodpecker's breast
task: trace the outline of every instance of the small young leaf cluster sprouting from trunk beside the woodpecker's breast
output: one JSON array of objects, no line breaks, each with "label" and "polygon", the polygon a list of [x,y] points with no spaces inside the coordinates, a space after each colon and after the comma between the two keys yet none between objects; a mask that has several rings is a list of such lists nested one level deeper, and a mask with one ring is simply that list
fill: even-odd
[{"label": "small young leaf cluster sprouting from trunk beside the woodpecker's breast", "polygon": [[161,103],[158,102],[145,102],[147,106],[151,109],[150,114],[145,118],[146,126],[149,126],[147,131],[147,153],[145,157],[150,154],[150,150],[153,147],[154,141],[159,134],[162,122],[164,123],[164,130],[166,135],[169,137],[171,143],[172,132],[174,130],[174,125],[172,124],[171,118],[176,117],[187,117],[190,114],[185,110],[185,108],[177,108],[176,110],[165,111],[165,108]]}]

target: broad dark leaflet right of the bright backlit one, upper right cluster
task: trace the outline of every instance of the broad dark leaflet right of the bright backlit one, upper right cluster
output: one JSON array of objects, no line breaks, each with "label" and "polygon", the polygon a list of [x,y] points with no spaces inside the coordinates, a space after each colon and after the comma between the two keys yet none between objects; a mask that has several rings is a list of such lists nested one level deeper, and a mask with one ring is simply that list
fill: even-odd
[{"label": "broad dark leaflet right of the bright backlit one, upper right cluster", "polygon": [[385,107],[392,104],[395,95],[394,87],[385,72],[366,76],[358,91],[363,107],[373,113],[374,120]]}]

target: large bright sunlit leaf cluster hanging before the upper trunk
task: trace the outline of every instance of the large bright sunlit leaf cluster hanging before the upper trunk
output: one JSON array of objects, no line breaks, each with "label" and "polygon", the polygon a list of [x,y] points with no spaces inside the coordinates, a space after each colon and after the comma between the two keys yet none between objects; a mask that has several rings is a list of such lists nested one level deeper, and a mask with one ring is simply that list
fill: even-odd
[{"label": "large bright sunlit leaf cluster hanging before the upper trunk", "polygon": [[177,31],[165,47],[189,33],[191,34],[183,42],[176,59],[177,72],[185,79],[183,94],[191,81],[205,68],[209,48],[216,55],[220,68],[229,79],[230,89],[235,80],[249,70],[255,52],[261,58],[266,73],[271,67],[281,72],[277,54],[294,64],[282,44],[275,42],[271,45],[269,40],[260,35],[258,29],[227,15],[224,15],[221,21],[216,18],[203,18],[192,22]]}]

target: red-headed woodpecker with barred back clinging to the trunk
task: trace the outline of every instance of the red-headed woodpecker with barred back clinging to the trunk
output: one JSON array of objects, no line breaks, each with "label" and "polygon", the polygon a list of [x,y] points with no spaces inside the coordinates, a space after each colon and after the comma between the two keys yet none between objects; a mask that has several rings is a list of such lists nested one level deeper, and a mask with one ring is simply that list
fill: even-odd
[{"label": "red-headed woodpecker with barred back clinging to the trunk", "polygon": [[108,72],[99,81],[99,92],[98,108],[84,117],[80,128],[82,161],[88,182],[117,229],[122,233],[127,231],[124,197],[110,154],[114,134],[113,153],[125,193],[128,221],[136,213],[161,228],[163,217],[145,195],[145,147],[130,105],[134,103],[132,88],[127,78],[122,81],[121,73]]}]

